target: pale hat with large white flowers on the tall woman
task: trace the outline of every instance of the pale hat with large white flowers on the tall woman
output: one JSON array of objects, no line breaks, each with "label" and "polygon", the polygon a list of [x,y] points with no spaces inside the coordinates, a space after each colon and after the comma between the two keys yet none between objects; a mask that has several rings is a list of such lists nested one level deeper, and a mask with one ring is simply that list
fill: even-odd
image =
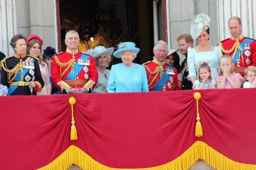
[{"label": "pale hat with large white flowers on the tall woman", "polygon": [[209,28],[210,21],[210,17],[204,13],[195,16],[190,25],[190,34],[194,40],[200,36],[203,30]]}]

